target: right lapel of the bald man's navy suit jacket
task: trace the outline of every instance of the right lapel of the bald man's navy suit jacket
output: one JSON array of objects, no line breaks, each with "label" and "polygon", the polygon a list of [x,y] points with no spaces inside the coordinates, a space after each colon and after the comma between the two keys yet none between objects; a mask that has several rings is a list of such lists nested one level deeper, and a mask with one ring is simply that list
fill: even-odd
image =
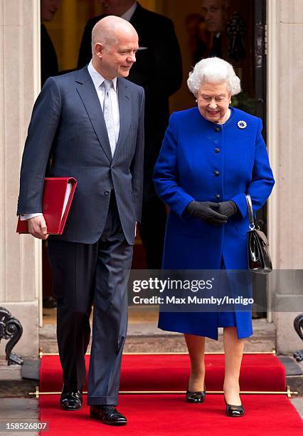
[{"label": "right lapel of the bald man's navy suit jacket", "polygon": [[119,100],[119,115],[120,115],[120,129],[117,147],[114,154],[114,160],[119,152],[119,148],[127,137],[127,133],[132,122],[132,100],[130,97],[127,81],[121,78],[117,79],[118,100]]}]

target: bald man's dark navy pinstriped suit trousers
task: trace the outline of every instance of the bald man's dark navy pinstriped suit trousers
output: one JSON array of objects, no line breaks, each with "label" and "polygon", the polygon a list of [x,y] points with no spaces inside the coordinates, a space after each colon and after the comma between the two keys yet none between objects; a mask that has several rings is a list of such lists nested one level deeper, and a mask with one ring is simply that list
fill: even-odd
[{"label": "bald man's dark navy pinstriped suit trousers", "polygon": [[115,192],[102,236],[95,244],[49,238],[57,302],[57,340],[63,383],[80,389],[85,383],[85,353],[92,348],[88,405],[117,405],[122,350],[127,334],[127,279],[132,246],[122,231]]}]

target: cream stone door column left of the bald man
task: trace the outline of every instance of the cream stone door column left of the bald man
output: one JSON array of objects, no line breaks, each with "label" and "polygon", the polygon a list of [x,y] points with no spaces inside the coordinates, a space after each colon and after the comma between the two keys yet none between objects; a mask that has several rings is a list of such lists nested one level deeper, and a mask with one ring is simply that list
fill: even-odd
[{"label": "cream stone door column left of the bald man", "polygon": [[41,242],[16,234],[16,204],[24,141],[40,89],[39,0],[0,0],[0,83],[0,306],[23,326],[14,351],[37,355]]}]

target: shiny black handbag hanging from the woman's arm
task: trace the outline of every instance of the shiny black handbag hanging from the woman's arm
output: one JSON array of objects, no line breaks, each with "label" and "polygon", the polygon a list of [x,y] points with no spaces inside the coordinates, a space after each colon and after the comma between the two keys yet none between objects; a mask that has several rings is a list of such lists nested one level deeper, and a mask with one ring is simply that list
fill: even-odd
[{"label": "shiny black handbag hanging from the woman's arm", "polygon": [[248,269],[257,274],[268,274],[272,271],[269,244],[265,233],[255,223],[252,212],[252,200],[246,194],[248,204],[248,217],[250,219],[250,230],[248,231]]}]

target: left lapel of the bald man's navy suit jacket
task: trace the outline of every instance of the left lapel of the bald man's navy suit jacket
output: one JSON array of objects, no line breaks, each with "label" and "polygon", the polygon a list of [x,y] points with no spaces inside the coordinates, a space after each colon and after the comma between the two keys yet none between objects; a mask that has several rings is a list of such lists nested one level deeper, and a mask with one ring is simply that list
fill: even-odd
[{"label": "left lapel of the bald man's navy suit jacket", "polygon": [[107,156],[107,159],[112,162],[110,140],[108,139],[107,128],[105,125],[102,108],[100,106],[100,100],[97,96],[95,86],[92,83],[90,73],[88,73],[87,66],[79,71],[79,78],[76,83],[78,83],[77,91],[80,95],[83,105],[85,105],[87,115],[90,118],[90,123],[92,123],[92,128],[95,130],[97,138],[103,151],[105,152],[105,155]]}]

